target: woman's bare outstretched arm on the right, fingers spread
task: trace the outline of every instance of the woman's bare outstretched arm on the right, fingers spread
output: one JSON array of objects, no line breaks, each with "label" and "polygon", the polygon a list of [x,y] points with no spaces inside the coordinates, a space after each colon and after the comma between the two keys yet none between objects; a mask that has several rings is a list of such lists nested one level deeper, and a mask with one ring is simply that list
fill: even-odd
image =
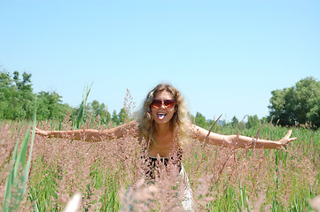
[{"label": "woman's bare outstretched arm on the right, fingers spread", "polygon": [[199,140],[207,141],[209,144],[233,148],[283,148],[289,142],[297,139],[291,138],[291,130],[284,138],[277,141],[255,139],[243,135],[222,135],[218,133],[210,133],[208,135],[209,132],[207,130],[197,125],[192,125],[192,133]]}]

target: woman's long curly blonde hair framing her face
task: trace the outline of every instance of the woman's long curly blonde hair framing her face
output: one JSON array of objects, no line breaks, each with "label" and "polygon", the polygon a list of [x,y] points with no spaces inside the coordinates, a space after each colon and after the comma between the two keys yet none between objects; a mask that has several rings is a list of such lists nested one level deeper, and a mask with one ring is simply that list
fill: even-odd
[{"label": "woman's long curly blonde hair framing her face", "polygon": [[159,84],[154,87],[148,95],[145,97],[141,110],[138,112],[137,122],[139,125],[139,134],[141,139],[144,139],[147,144],[150,142],[156,142],[154,140],[154,133],[156,133],[155,122],[152,117],[152,110],[150,104],[154,97],[160,91],[167,91],[170,93],[176,101],[173,117],[170,120],[172,131],[174,132],[175,138],[178,141],[179,147],[187,144],[190,140],[190,125],[191,121],[188,116],[188,110],[183,99],[183,95],[170,84]]}]

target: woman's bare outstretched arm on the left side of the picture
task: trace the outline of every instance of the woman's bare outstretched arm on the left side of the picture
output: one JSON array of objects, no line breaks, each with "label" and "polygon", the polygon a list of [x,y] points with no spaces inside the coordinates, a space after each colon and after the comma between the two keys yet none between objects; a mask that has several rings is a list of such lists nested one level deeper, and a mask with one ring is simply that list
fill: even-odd
[{"label": "woman's bare outstretched arm on the left side of the picture", "polygon": [[68,138],[72,140],[85,140],[89,142],[97,142],[101,140],[119,139],[123,137],[128,130],[135,129],[136,121],[120,125],[106,130],[82,129],[70,131],[43,131],[35,129],[35,134],[49,138]]}]

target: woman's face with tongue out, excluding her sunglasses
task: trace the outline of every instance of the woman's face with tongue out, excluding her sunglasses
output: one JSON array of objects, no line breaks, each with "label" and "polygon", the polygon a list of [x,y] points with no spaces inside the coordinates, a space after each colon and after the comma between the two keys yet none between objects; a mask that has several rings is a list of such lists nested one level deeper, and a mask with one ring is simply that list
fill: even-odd
[{"label": "woman's face with tongue out, excluding her sunglasses", "polygon": [[[163,91],[159,91],[155,95],[154,99],[165,101],[165,100],[174,100],[174,97],[170,93],[168,93],[168,91],[163,90]],[[171,118],[174,116],[175,112],[176,112],[175,104],[171,107],[170,106],[166,107],[162,102],[159,108],[152,107],[153,120],[159,125],[168,124]]]}]

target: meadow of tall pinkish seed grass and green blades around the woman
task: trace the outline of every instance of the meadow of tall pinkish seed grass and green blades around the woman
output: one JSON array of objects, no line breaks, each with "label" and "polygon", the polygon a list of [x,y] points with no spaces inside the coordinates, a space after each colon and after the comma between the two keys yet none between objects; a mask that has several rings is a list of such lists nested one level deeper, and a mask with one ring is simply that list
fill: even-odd
[{"label": "meadow of tall pinkish seed grass and green blades around the woman", "polygon": [[[13,150],[17,140],[23,140],[28,132],[28,125],[0,123],[1,206],[5,180],[14,163]],[[67,116],[60,125],[39,122],[37,126],[44,130],[72,129]],[[82,125],[107,127],[110,126],[100,125],[98,120]],[[260,130],[238,132],[221,125],[215,125],[213,130],[267,140],[279,140],[287,131],[286,127],[268,123]],[[297,140],[284,149],[221,148],[193,140],[183,148],[183,166],[195,210],[314,211],[309,201],[320,195],[320,132],[296,127],[293,137]],[[164,172],[155,184],[144,182],[142,146],[131,129],[122,139],[96,143],[35,136],[27,193],[19,210],[62,211],[74,193],[81,193],[80,211],[182,211],[183,190],[168,174]],[[16,190],[13,187],[13,192]]]}]

